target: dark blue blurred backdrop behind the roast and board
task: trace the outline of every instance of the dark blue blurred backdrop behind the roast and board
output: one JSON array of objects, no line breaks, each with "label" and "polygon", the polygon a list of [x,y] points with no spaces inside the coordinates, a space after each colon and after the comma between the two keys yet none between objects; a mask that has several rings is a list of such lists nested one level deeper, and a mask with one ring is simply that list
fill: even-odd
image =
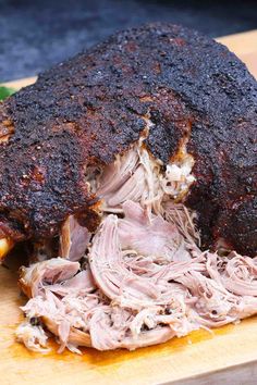
[{"label": "dark blue blurred backdrop behind the roast and board", "polygon": [[223,36],[257,27],[257,1],[0,0],[0,82],[38,74],[118,29],[149,21]]}]

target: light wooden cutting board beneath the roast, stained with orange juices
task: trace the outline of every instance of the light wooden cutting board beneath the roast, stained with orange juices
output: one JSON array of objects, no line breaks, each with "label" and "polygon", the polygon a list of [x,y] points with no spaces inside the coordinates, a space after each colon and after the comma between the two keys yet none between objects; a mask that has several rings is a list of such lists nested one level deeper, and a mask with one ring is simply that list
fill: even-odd
[{"label": "light wooden cutting board beneath the roast, stained with orange juices", "polygon": [[[257,77],[257,30],[218,39],[234,51]],[[15,88],[34,78],[9,83]],[[65,351],[46,356],[27,351],[15,343],[14,330],[25,302],[16,274],[0,266],[0,384],[257,384],[257,316],[238,325],[194,332],[163,345],[136,351],[83,356]]]}]

